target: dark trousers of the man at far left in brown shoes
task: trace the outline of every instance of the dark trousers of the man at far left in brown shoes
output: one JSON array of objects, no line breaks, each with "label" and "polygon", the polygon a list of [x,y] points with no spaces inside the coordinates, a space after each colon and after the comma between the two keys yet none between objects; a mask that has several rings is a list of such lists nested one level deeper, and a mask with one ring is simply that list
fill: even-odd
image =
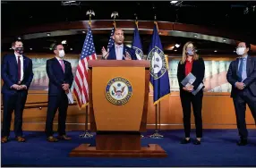
[{"label": "dark trousers of the man at far left in brown shoes", "polygon": [[2,137],[10,135],[12,114],[14,111],[14,133],[16,137],[22,136],[22,115],[27,101],[26,91],[17,91],[15,94],[3,94],[3,127]]}]

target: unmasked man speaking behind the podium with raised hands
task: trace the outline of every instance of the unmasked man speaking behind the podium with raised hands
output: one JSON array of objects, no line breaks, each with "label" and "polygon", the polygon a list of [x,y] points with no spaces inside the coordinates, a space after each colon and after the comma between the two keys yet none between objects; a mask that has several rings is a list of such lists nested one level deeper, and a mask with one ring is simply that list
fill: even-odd
[{"label": "unmasked man speaking behind the podium with raised hands", "polygon": [[124,45],[124,31],[122,29],[115,29],[114,36],[112,37],[115,44],[107,51],[102,47],[103,59],[107,60],[137,60],[135,50]]}]

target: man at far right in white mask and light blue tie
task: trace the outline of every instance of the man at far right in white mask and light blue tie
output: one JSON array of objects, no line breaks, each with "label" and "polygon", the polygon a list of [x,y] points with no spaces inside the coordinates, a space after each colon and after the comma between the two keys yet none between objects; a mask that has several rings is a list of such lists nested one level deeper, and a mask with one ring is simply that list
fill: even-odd
[{"label": "man at far right in white mask and light blue tie", "polygon": [[250,44],[239,43],[236,54],[240,57],[230,63],[226,74],[227,81],[232,85],[231,97],[235,105],[237,129],[240,135],[238,146],[245,146],[248,143],[245,122],[246,104],[256,123],[256,59],[248,55],[249,51]]}]

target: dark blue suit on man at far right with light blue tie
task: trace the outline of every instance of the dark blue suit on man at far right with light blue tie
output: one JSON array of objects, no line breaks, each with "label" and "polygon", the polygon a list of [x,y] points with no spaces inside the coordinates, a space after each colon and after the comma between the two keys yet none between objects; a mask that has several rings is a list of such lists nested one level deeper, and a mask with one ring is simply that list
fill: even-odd
[{"label": "dark blue suit on man at far right with light blue tie", "polygon": [[[231,97],[235,105],[237,129],[241,139],[247,139],[248,131],[245,122],[246,104],[249,106],[256,124],[256,58],[248,55],[243,74],[239,75],[239,65],[243,60],[236,59],[230,63],[226,73],[226,80],[232,85]],[[235,88],[235,82],[242,80],[245,87],[241,90]]]}]

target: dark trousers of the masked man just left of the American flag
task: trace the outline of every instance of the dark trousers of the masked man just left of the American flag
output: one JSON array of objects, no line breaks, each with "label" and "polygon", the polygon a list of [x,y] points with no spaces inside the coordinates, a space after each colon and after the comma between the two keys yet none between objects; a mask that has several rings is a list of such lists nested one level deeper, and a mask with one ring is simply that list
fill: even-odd
[{"label": "dark trousers of the masked man just left of the American flag", "polygon": [[46,122],[46,134],[47,137],[53,136],[53,122],[55,119],[55,113],[58,110],[58,134],[60,136],[65,135],[65,122],[68,108],[67,96],[62,93],[58,96],[48,97],[48,108],[47,108],[47,122]]}]

